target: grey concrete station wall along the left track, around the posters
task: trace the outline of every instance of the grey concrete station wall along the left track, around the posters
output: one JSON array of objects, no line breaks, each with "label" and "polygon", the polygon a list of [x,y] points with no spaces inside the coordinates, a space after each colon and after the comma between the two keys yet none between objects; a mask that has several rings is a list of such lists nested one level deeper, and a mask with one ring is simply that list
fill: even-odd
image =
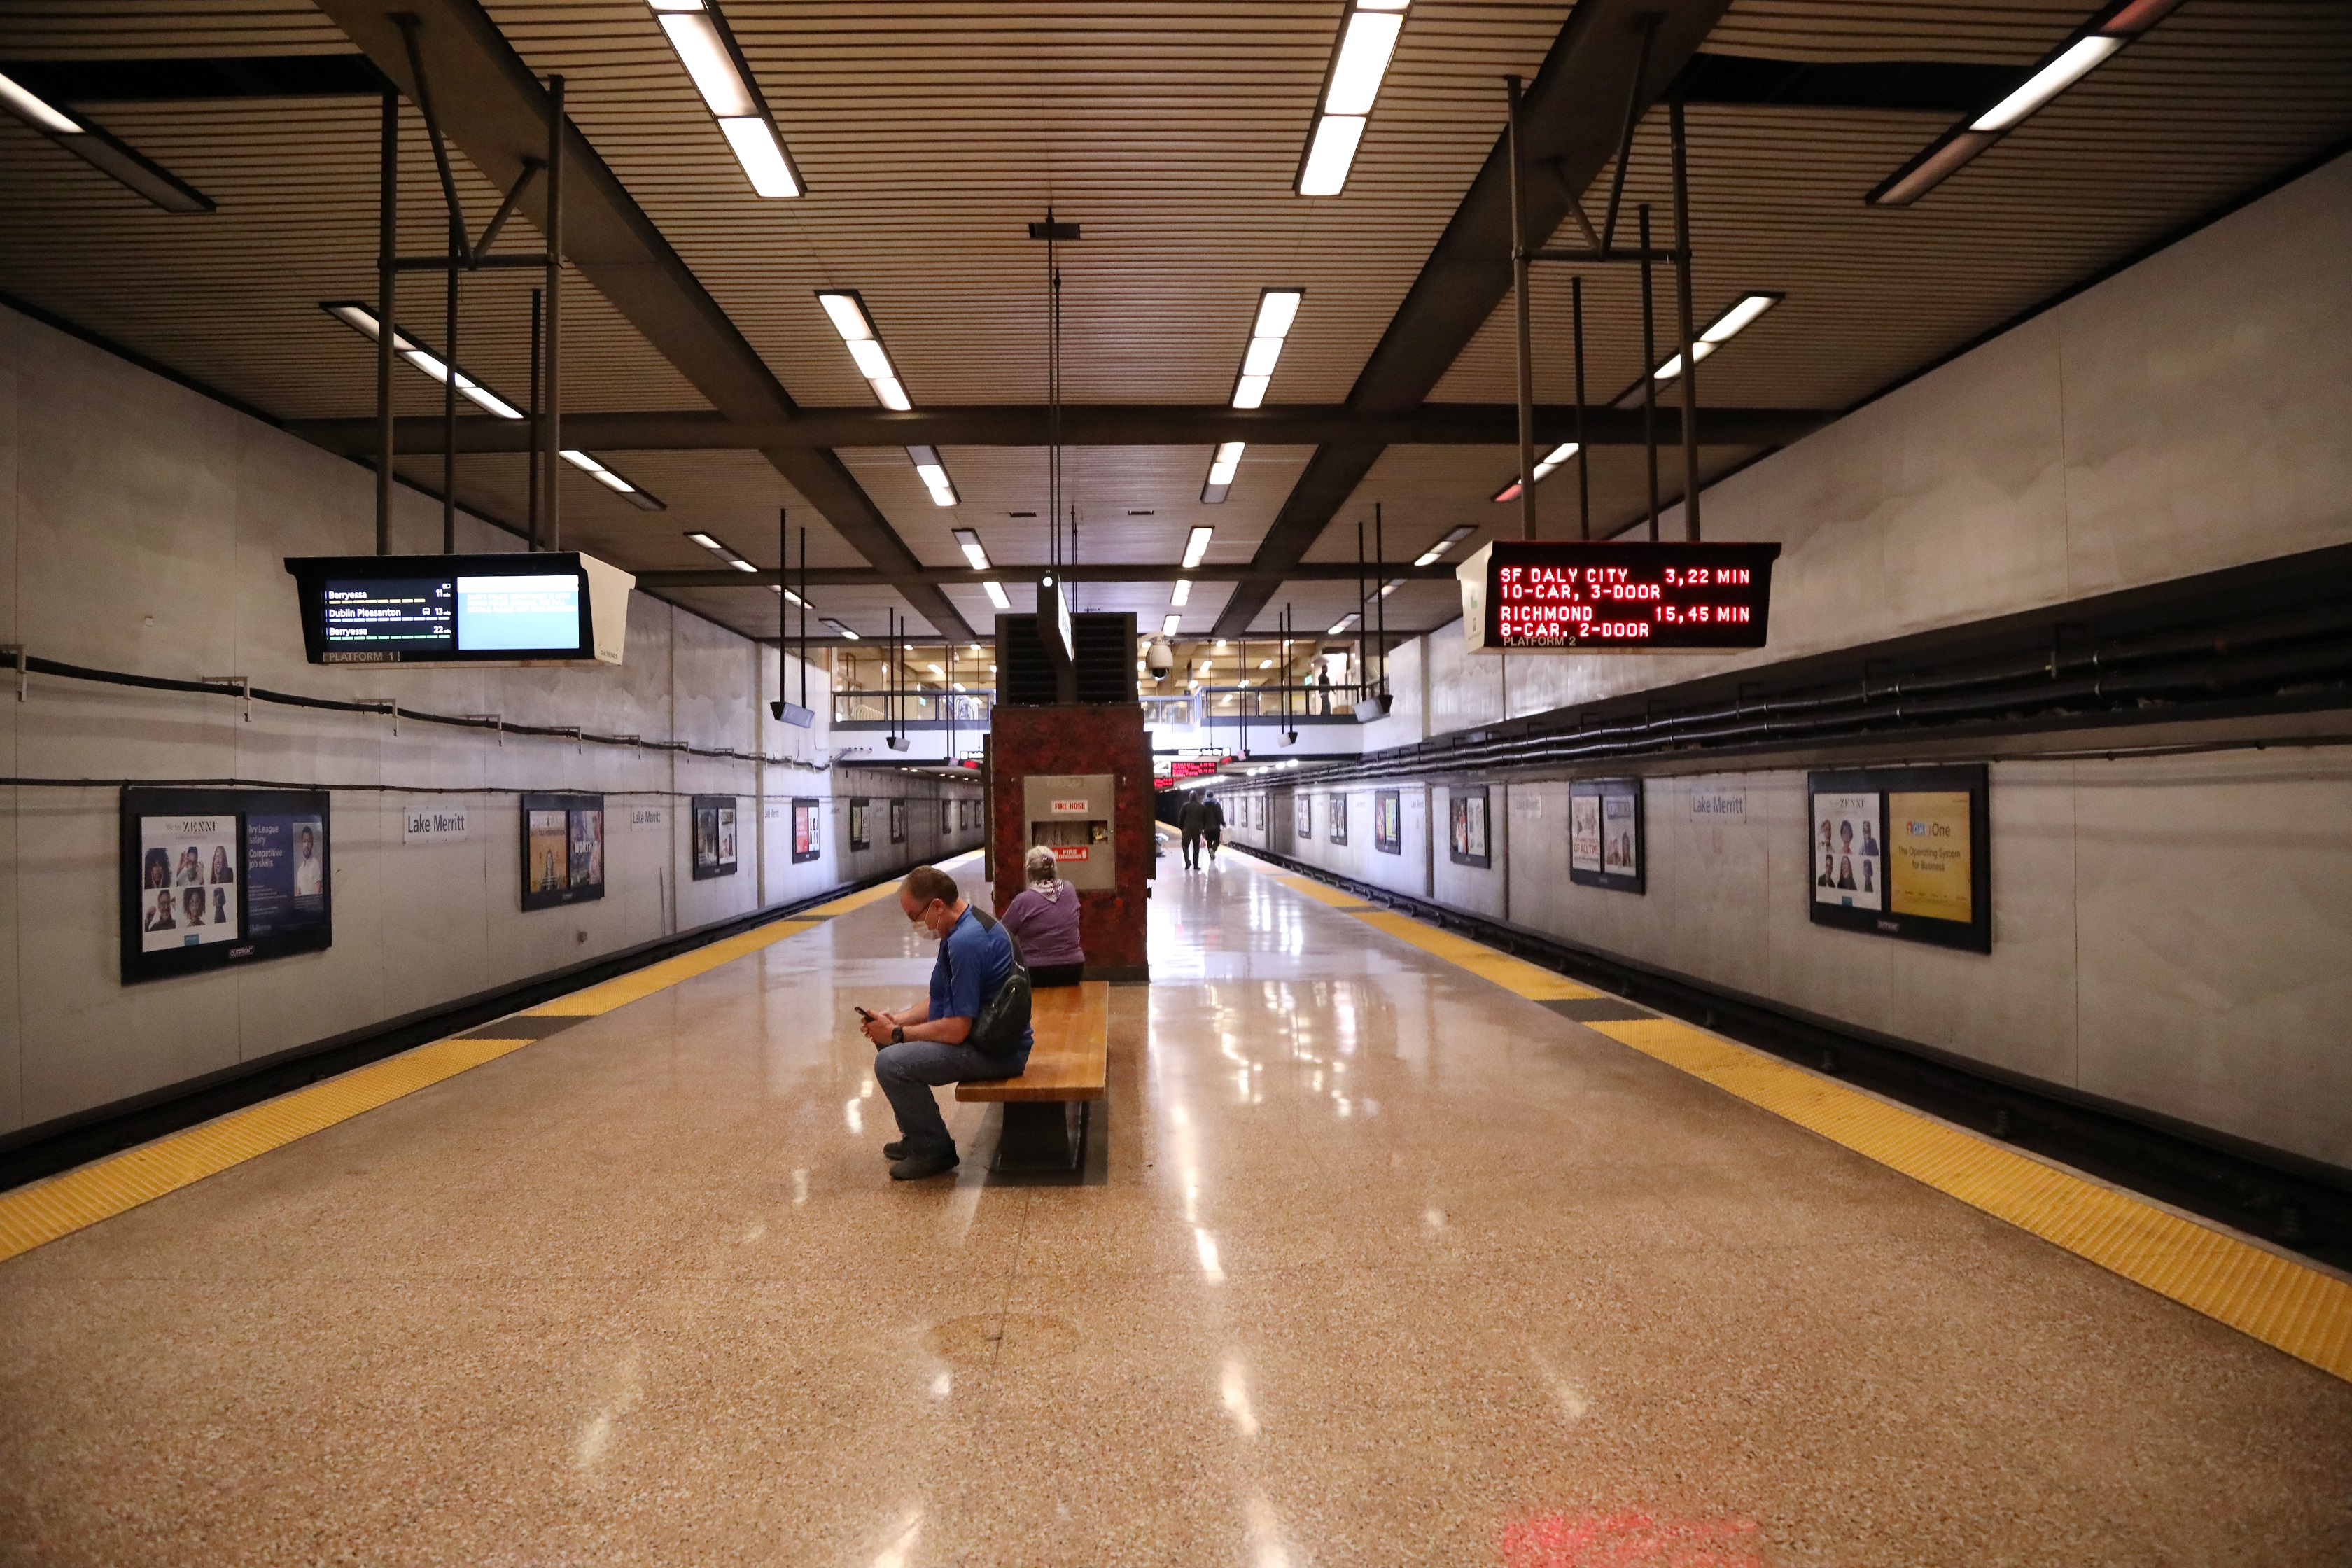
[{"label": "grey concrete station wall along the left track, around the posters", "polygon": [[[619,670],[308,665],[278,559],[367,552],[369,468],[9,310],[0,400],[0,642],[28,651],[21,677],[0,656],[0,1140],[748,914],[760,837],[769,903],[978,842],[917,806],[903,844],[849,853],[840,797],[943,785],[830,771],[821,670],[816,724],[776,724],[774,649],[642,595]],[[437,501],[400,489],[393,522],[395,548],[440,548]],[[459,527],[461,550],[522,548]],[[774,816],[739,820],[736,875],[694,879],[684,804],[757,813],[755,755]],[[120,780],[332,785],[334,945],[125,987]],[[522,790],[607,797],[602,900],[520,907]],[[795,797],[821,802],[816,860],[793,860]],[[463,837],[409,839],[426,802],[461,806]]]}]

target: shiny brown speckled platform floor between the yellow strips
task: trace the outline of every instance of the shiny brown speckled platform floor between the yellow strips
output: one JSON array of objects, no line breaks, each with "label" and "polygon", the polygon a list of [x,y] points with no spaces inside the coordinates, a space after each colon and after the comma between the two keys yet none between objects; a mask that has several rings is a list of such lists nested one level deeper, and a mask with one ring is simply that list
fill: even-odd
[{"label": "shiny brown speckled platform floor between the yellow strips", "polygon": [[[967,877],[971,872],[967,870]],[[2352,1387],[1162,860],[1108,1159],[891,900],[0,1265],[0,1563],[2347,1563]]]}]

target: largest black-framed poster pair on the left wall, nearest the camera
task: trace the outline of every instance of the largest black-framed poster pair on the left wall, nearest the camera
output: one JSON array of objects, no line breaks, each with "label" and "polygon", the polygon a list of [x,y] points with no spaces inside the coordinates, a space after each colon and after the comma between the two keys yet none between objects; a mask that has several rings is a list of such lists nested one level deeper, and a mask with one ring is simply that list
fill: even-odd
[{"label": "largest black-framed poster pair on the left wall, nearest the camera", "polygon": [[[310,875],[296,875],[294,842],[303,827],[313,832],[315,893],[299,891],[303,882],[310,882]],[[205,853],[207,849],[212,853]],[[191,853],[195,856],[195,877],[181,879],[181,860]],[[148,879],[151,860],[162,870],[162,882]],[[280,860],[285,860],[282,867]],[[256,898],[256,867],[273,884],[282,882],[285,886],[270,886],[268,898]],[[325,952],[334,947],[329,795],[327,790],[125,788],[120,795],[118,882],[122,985],[259,964],[296,952]],[[200,912],[195,912],[193,924],[181,924],[191,919],[191,893]],[[158,896],[172,900],[165,917],[172,924],[158,924],[151,931],[148,917],[158,912]],[[315,898],[318,905],[299,905],[308,898]],[[226,919],[230,914],[233,919]],[[148,945],[148,938],[162,931],[172,931],[179,940],[165,945],[169,943],[165,938],[165,943]],[[219,931],[228,931],[228,936],[216,936]],[[191,943],[188,936],[198,936],[198,940]]]}]

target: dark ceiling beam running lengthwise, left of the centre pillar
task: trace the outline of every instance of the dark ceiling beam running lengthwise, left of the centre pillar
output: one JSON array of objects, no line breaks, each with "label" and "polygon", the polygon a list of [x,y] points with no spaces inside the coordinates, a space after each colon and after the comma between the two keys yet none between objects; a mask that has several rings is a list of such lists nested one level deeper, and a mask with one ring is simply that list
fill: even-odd
[{"label": "dark ceiling beam running lengthwise, left of the centre pillar", "polygon": [[[393,16],[416,16],[442,129],[501,190],[513,188],[524,160],[546,158],[548,92],[477,0],[320,0],[320,9],[412,103],[416,82]],[[793,423],[800,411],[793,397],[576,125],[567,127],[564,179],[564,259],[724,418]],[[522,197],[522,212],[546,233],[543,183]],[[581,440],[572,435],[574,418],[564,416],[567,444]],[[903,578],[901,592],[917,616],[938,632],[971,635],[943,592],[908,576],[920,567],[915,552],[833,451],[790,442],[760,454],[884,578]]]}]

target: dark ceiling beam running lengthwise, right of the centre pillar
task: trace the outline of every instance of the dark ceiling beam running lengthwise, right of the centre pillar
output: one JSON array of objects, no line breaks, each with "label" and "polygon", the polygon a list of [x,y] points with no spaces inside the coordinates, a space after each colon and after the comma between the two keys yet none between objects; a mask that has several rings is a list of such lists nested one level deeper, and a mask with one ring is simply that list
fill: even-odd
[{"label": "dark ceiling beam running lengthwise, right of the centre pillar", "polygon": [[[1628,87],[1635,113],[1646,113],[1726,9],[1731,0],[1576,2],[1519,108],[1529,167],[1552,174],[1526,181],[1526,235],[1534,244],[1548,242],[1569,216],[1569,193],[1583,193],[1616,158]],[[1649,71],[1635,82],[1642,33],[1651,24]],[[1496,118],[1501,108],[1503,92],[1496,85]],[[1418,409],[1510,294],[1510,150],[1498,134],[1421,277],[1355,378],[1348,409],[1369,416]],[[1710,423],[1712,418],[1708,411]],[[1270,576],[1235,590],[1216,618],[1218,637],[1240,637],[1256,621],[1272,597],[1279,569],[1294,567],[1315,548],[1381,451],[1381,442],[1334,442],[1315,451],[1258,545],[1256,564]]]}]

